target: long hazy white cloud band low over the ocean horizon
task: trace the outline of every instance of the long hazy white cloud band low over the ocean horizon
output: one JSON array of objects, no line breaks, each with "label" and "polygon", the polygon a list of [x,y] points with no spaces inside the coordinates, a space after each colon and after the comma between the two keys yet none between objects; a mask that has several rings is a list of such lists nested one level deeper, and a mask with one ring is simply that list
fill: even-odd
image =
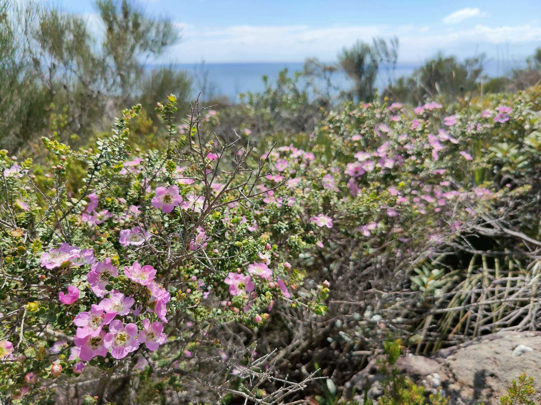
[{"label": "long hazy white cloud band low over the ocean horizon", "polygon": [[[307,57],[336,60],[344,46],[358,39],[371,42],[373,37],[399,38],[399,62],[419,63],[438,50],[459,57],[478,52],[494,52],[495,46],[513,44],[520,51],[535,48],[541,42],[541,26],[476,25],[467,29],[416,27],[413,25],[359,25],[311,28],[306,25],[255,26],[232,25],[206,28],[182,25],[181,43],[175,45],[157,62],[194,63],[206,59],[209,63],[227,62],[302,62]],[[532,45],[533,44],[533,45]],[[490,55],[489,55],[490,56]]]}]

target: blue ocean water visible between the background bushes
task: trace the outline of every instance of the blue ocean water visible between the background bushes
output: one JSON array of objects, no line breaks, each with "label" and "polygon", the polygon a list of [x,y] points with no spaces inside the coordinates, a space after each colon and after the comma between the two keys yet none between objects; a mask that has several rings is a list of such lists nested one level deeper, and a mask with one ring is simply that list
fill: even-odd
[{"label": "blue ocean water visible between the background bushes", "polygon": [[[393,72],[392,79],[401,76],[409,76],[419,65],[402,64],[397,65]],[[287,69],[289,73],[302,71],[303,62],[284,63],[202,63],[202,64],[177,64],[175,68],[187,71],[193,77],[193,96],[200,91],[206,93],[205,98],[226,96],[232,102],[239,101],[239,93],[260,92],[265,89],[262,77],[267,76],[269,82],[275,82],[278,73]],[[484,72],[489,77],[496,77],[517,68],[517,63],[486,62]],[[384,89],[387,84],[387,75],[380,72],[375,85],[379,90]],[[349,89],[352,85],[344,72],[334,73],[333,85],[339,89]],[[316,83],[320,88],[324,83]]]}]

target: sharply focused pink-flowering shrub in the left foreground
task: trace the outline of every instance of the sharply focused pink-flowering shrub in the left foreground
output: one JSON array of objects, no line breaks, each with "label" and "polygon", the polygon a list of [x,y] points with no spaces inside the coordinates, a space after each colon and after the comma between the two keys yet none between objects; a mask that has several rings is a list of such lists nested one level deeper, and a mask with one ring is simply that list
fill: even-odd
[{"label": "sharply focused pink-flowering shrub in the left foreground", "polygon": [[[95,149],[44,138],[48,172],[0,152],[3,395],[45,395],[34,389],[88,365],[112,376],[144,360],[177,376],[203,346],[217,353],[221,324],[258,327],[278,301],[325,312],[324,289],[294,294],[302,273],[253,232],[265,165],[249,160],[253,146],[204,140],[198,107],[179,134],[173,96],[159,111],[163,152],[126,145],[138,107]],[[69,188],[72,165],[87,168],[81,190]]]}]

